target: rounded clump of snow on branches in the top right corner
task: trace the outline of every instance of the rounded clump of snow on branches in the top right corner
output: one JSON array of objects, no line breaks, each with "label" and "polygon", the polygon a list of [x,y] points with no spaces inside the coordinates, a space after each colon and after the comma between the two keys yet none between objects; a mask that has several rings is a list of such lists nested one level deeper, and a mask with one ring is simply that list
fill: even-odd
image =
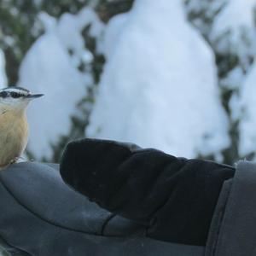
[{"label": "rounded clump of snow on branches in the top right corner", "polygon": [[218,42],[219,52],[235,53],[244,62],[245,56],[255,53],[255,6],[256,0],[230,0],[218,14],[211,38]]}]

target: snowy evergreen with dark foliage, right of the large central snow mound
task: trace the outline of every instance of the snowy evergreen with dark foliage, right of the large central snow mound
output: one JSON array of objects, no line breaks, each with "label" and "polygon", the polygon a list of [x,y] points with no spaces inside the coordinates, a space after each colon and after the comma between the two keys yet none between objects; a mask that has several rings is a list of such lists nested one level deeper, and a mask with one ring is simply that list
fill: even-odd
[{"label": "snowy evergreen with dark foliage, right of the large central snow mound", "polygon": [[247,101],[246,88],[255,56],[256,1],[187,0],[186,3],[189,20],[204,35],[216,56],[222,103],[230,121],[231,145],[224,152],[224,160],[233,163],[243,157],[251,159],[252,148],[245,150],[251,136],[244,127],[253,129],[254,114],[249,110],[253,102]]}]

